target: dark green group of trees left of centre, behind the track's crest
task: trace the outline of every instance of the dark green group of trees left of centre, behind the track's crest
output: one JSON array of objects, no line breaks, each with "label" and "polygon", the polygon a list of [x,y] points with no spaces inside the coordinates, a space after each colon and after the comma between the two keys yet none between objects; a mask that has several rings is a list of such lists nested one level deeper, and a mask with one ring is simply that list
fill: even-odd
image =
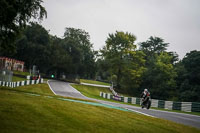
[{"label": "dark green group of trees left of centre, behind the track's crest", "polygon": [[95,51],[90,36],[81,29],[66,28],[63,38],[52,36],[37,23],[31,23],[15,41],[16,51],[6,55],[25,61],[27,70],[36,65],[40,73],[60,78],[95,76]]}]

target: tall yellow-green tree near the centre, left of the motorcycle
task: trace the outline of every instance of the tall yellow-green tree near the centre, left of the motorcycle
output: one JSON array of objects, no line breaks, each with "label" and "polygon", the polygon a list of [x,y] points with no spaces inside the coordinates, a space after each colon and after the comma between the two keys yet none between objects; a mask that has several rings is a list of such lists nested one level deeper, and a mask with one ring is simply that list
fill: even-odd
[{"label": "tall yellow-green tree near the centre, left of the motorcycle", "polygon": [[138,87],[143,73],[143,53],[136,52],[136,37],[130,33],[118,32],[109,34],[106,46],[101,50],[103,58],[109,63],[110,75],[116,75],[118,91],[130,91]]}]

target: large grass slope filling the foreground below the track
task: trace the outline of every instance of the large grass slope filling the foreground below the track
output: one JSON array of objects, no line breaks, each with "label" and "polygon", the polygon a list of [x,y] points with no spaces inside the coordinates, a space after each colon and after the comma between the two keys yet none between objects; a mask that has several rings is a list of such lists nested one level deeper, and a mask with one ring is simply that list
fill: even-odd
[{"label": "large grass slope filling the foreground below the track", "polygon": [[[50,94],[45,85],[11,91],[0,87],[1,132],[71,133],[199,133],[200,130],[140,114],[30,96],[22,91]],[[27,86],[25,86],[27,87]],[[34,90],[36,88],[36,90]],[[43,91],[43,89],[45,89]]]}]

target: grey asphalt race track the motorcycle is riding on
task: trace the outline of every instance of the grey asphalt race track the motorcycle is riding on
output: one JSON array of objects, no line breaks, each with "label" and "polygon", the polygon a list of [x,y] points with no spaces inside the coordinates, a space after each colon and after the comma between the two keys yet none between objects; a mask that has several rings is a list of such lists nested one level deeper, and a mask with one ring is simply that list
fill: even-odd
[{"label": "grey asphalt race track the motorcycle is riding on", "polygon": [[147,116],[163,118],[166,120],[174,121],[174,122],[181,123],[184,125],[193,126],[200,129],[200,116],[184,114],[184,113],[160,111],[160,110],[154,110],[154,109],[146,110],[146,109],[141,109],[140,107],[135,107],[131,105],[125,105],[125,104],[120,104],[120,103],[88,98],[82,95],[79,91],[71,87],[70,84],[66,82],[49,81],[48,84],[55,95],[93,100],[99,103],[126,108],[126,109],[129,109],[130,111],[138,112]]}]

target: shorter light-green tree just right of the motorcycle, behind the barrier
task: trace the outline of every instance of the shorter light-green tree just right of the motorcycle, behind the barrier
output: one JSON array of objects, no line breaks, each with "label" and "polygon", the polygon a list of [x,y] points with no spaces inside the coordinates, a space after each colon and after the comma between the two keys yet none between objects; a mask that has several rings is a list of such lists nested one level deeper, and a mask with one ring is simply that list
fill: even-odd
[{"label": "shorter light-green tree just right of the motorcycle, behind the barrier", "polygon": [[164,52],[156,56],[153,68],[146,75],[153,98],[173,99],[177,73],[171,63],[172,59],[172,56]]}]

